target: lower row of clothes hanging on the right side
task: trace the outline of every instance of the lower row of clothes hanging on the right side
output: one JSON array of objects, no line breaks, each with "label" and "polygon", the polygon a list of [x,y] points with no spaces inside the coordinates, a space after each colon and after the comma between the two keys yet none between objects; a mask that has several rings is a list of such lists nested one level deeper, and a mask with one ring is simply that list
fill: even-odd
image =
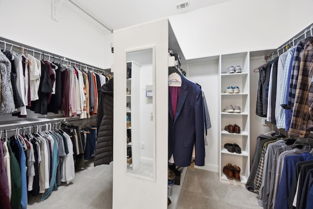
[{"label": "lower row of clothes hanging on the right side", "polygon": [[304,205],[300,208],[306,207],[311,185],[309,188],[306,187],[304,194],[301,193],[301,189],[296,193],[301,177],[298,175],[300,169],[296,166],[298,162],[313,162],[310,151],[312,147],[307,143],[282,135],[258,137],[246,188],[258,194],[260,206],[264,209],[293,208],[294,199],[300,201],[303,195],[304,200],[301,203]]}]

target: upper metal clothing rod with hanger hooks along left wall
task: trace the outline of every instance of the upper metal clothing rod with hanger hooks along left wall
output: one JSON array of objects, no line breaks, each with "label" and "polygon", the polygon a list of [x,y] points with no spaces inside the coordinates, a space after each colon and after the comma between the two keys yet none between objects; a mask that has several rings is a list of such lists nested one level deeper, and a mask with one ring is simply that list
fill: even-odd
[{"label": "upper metal clothing rod with hanger hooks along left wall", "polygon": [[[0,39],[3,39],[3,38],[0,37]],[[71,61],[71,60],[67,59],[66,57],[60,58],[60,57],[58,57],[58,55],[57,55],[57,56],[55,56],[55,55],[50,55],[50,54],[47,54],[47,53],[42,52],[42,51],[37,51],[37,50],[31,49],[31,48],[28,48],[28,47],[24,47],[24,46],[19,46],[19,45],[16,45],[16,44],[13,44],[13,43],[4,41],[4,40],[0,40],[0,42],[2,42],[2,43],[4,44],[4,49],[10,50],[10,51],[12,51],[12,50],[13,50],[13,47],[15,46],[15,47],[20,48],[20,51],[21,51],[22,53],[24,53],[24,49],[25,49],[25,50],[27,50],[27,51],[28,51],[28,50],[29,50],[29,51],[32,51],[32,52],[33,52],[33,56],[35,56],[35,52],[38,53],[38,54],[40,54],[40,59],[41,59],[41,55],[44,55],[44,57],[45,57],[45,56],[48,56],[48,57],[49,57],[49,59],[48,59],[49,61],[50,61],[51,58],[53,58],[53,59],[56,58],[56,59],[59,59],[59,60],[60,60],[60,63],[61,63],[61,61],[62,61],[64,64],[65,64],[65,63],[67,63],[67,64],[69,64],[69,65],[74,64],[75,67],[77,67],[77,65],[80,65],[80,67],[85,67],[86,69],[89,68],[89,69],[91,69],[91,71],[98,71],[98,70],[99,70],[99,71],[108,73],[107,70],[102,70],[102,69],[95,68],[95,67],[91,67],[91,66],[89,66],[89,65],[82,64],[82,63],[79,63],[79,62],[76,62],[76,61]],[[9,46],[7,47],[7,45],[9,45]]]}]

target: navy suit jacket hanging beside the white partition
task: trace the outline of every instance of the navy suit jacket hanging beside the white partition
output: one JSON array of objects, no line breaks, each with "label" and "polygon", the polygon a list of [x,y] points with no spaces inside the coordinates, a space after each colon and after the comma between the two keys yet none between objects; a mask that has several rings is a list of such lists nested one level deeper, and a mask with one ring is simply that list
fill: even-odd
[{"label": "navy suit jacket hanging beside the white partition", "polygon": [[175,118],[169,93],[168,159],[174,155],[175,164],[189,166],[195,144],[195,164],[204,165],[204,113],[202,92],[198,85],[181,77],[181,87]]}]

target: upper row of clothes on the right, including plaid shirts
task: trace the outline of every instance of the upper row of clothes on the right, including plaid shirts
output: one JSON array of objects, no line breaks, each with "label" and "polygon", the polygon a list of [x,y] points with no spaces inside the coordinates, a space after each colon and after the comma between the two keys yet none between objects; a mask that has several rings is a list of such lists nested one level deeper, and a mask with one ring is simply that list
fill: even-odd
[{"label": "upper row of clothes on the right, including plaid shirts", "polygon": [[[272,111],[265,115],[258,111],[260,101],[273,104],[273,100],[263,98],[259,92],[266,91],[259,85],[257,97],[257,115],[267,116],[268,122],[276,124],[277,128],[289,131],[295,137],[308,137],[313,128],[313,120],[310,117],[312,112],[313,88],[311,88],[311,78],[313,75],[313,38],[300,40],[296,46],[291,47],[278,58],[277,79],[270,83],[277,84],[276,88],[271,89],[271,95],[276,95],[275,100],[275,120]],[[259,69],[260,70],[260,69]],[[273,69],[275,70],[275,69]],[[274,72],[273,72],[274,73]],[[264,70],[260,70],[260,81],[267,77]],[[268,74],[268,73],[267,73]],[[259,82],[260,83],[260,82]],[[271,96],[272,97],[272,96]],[[270,116],[269,116],[270,114]],[[312,115],[312,114],[311,114]]]}]

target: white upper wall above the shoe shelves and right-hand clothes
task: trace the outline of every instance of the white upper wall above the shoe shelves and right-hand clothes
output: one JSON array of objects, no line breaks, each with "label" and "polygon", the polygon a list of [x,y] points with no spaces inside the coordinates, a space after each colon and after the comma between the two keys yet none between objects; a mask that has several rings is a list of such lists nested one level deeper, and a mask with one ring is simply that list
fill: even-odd
[{"label": "white upper wall above the shoe shelves and right-hand clothes", "polygon": [[313,22],[312,8],[312,0],[231,0],[169,20],[192,59],[279,47]]}]

